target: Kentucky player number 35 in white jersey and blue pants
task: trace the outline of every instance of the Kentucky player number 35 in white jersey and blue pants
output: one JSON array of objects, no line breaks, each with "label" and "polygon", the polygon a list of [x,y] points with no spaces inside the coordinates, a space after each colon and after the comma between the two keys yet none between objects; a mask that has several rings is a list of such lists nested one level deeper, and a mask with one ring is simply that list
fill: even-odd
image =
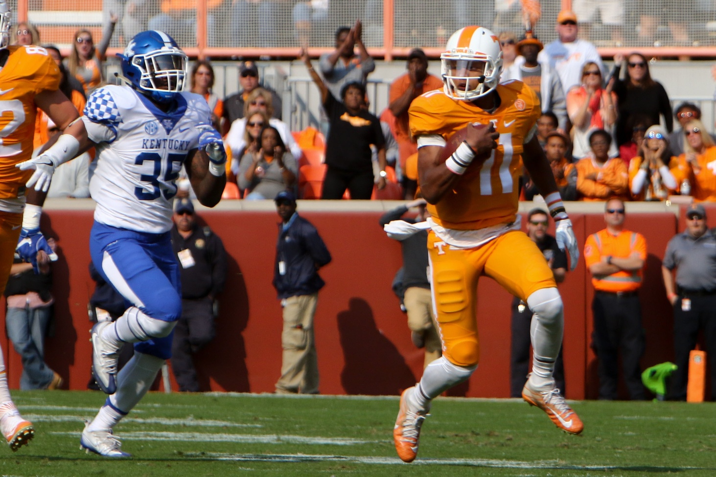
[{"label": "Kentucky player number 35 in white jersey and blue pants", "polygon": [[[226,184],[226,153],[200,95],[182,92],[186,55],[163,32],[137,34],[127,45],[122,74],[128,86],[100,87],[84,116],[39,157],[27,183],[47,190],[54,168],[95,146],[89,182],[97,202],[89,248],[92,261],[129,308],[116,322],[92,327],[92,374],[110,396],[82,432],[82,448],[126,457],[112,428],[140,401],[171,355],[181,313],[178,264],[170,243],[175,180],[182,165],[200,203],[215,206]],[[117,353],[135,355],[117,374]]]}]

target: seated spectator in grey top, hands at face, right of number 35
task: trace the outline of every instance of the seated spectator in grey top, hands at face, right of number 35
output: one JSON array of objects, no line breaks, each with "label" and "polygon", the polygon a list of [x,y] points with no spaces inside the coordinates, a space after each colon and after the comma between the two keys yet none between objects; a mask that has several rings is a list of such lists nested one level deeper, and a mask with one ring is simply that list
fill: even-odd
[{"label": "seated spectator in grey top, hands at face, right of number 35", "polygon": [[238,165],[238,188],[248,191],[248,201],[274,199],[279,192],[292,190],[299,165],[275,127],[264,126],[259,136],[261,149],[246,153]]}]

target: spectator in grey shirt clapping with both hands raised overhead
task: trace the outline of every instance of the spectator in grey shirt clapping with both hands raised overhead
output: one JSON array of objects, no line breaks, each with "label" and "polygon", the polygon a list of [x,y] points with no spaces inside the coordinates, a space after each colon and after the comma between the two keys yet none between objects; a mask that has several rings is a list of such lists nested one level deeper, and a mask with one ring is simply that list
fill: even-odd
[{"label": "spectator in grey shirt clapping with both hands raised overhead", "polygon": [[[321,54],[319,68],[324,85],[337,100],[341,100],[344,85],[358,82],[365,85],[368,74],[375,69],[375,62],[368,54],[361,39],[363,26],[356,20],[352,28],[342,26],[336,32],[336,49]],[[358,54],[354,49],[358,47]]]}]

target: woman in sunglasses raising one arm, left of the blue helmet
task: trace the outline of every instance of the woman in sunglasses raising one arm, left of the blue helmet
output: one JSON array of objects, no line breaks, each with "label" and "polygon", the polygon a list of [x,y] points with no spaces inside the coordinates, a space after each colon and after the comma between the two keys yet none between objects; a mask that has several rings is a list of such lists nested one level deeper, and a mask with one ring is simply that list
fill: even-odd
[{"label": "woman in sunglasses raising one arm, left of the blue helmet", "polygon": [[112,16],[112,21],[105,25],[105,29],[102,31],[102,43],[97,48],[95,48],[95,42],[89,30],[79,29],[74,34],[72,52],[69,53],[67,59],[67,69],[69,74],[82,83],[87,96],[105,82],[102,61],[106,58],[105,54],[116,23],[117,16],[115,15]]}]

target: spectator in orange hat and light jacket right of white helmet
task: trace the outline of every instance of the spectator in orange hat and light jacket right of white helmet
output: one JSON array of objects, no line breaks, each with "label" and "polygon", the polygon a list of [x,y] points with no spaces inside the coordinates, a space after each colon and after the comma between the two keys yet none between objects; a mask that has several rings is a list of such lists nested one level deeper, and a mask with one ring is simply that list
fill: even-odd
[{"label": "spectator in orange hat and light jacket right of white helmet", "polygon": [[514,79],[520,80],[531,87],[540,97],[542,111],[551,111],[558,120],[557,128],[563,132],[567,130],[567,107],[562,83],[559,75],[549,69],[549,64],[539,64],[537,57],[543,49],[542,42],[532,32],[526,32],[520,39],[517,50],[521,56],[517,57]]}]

